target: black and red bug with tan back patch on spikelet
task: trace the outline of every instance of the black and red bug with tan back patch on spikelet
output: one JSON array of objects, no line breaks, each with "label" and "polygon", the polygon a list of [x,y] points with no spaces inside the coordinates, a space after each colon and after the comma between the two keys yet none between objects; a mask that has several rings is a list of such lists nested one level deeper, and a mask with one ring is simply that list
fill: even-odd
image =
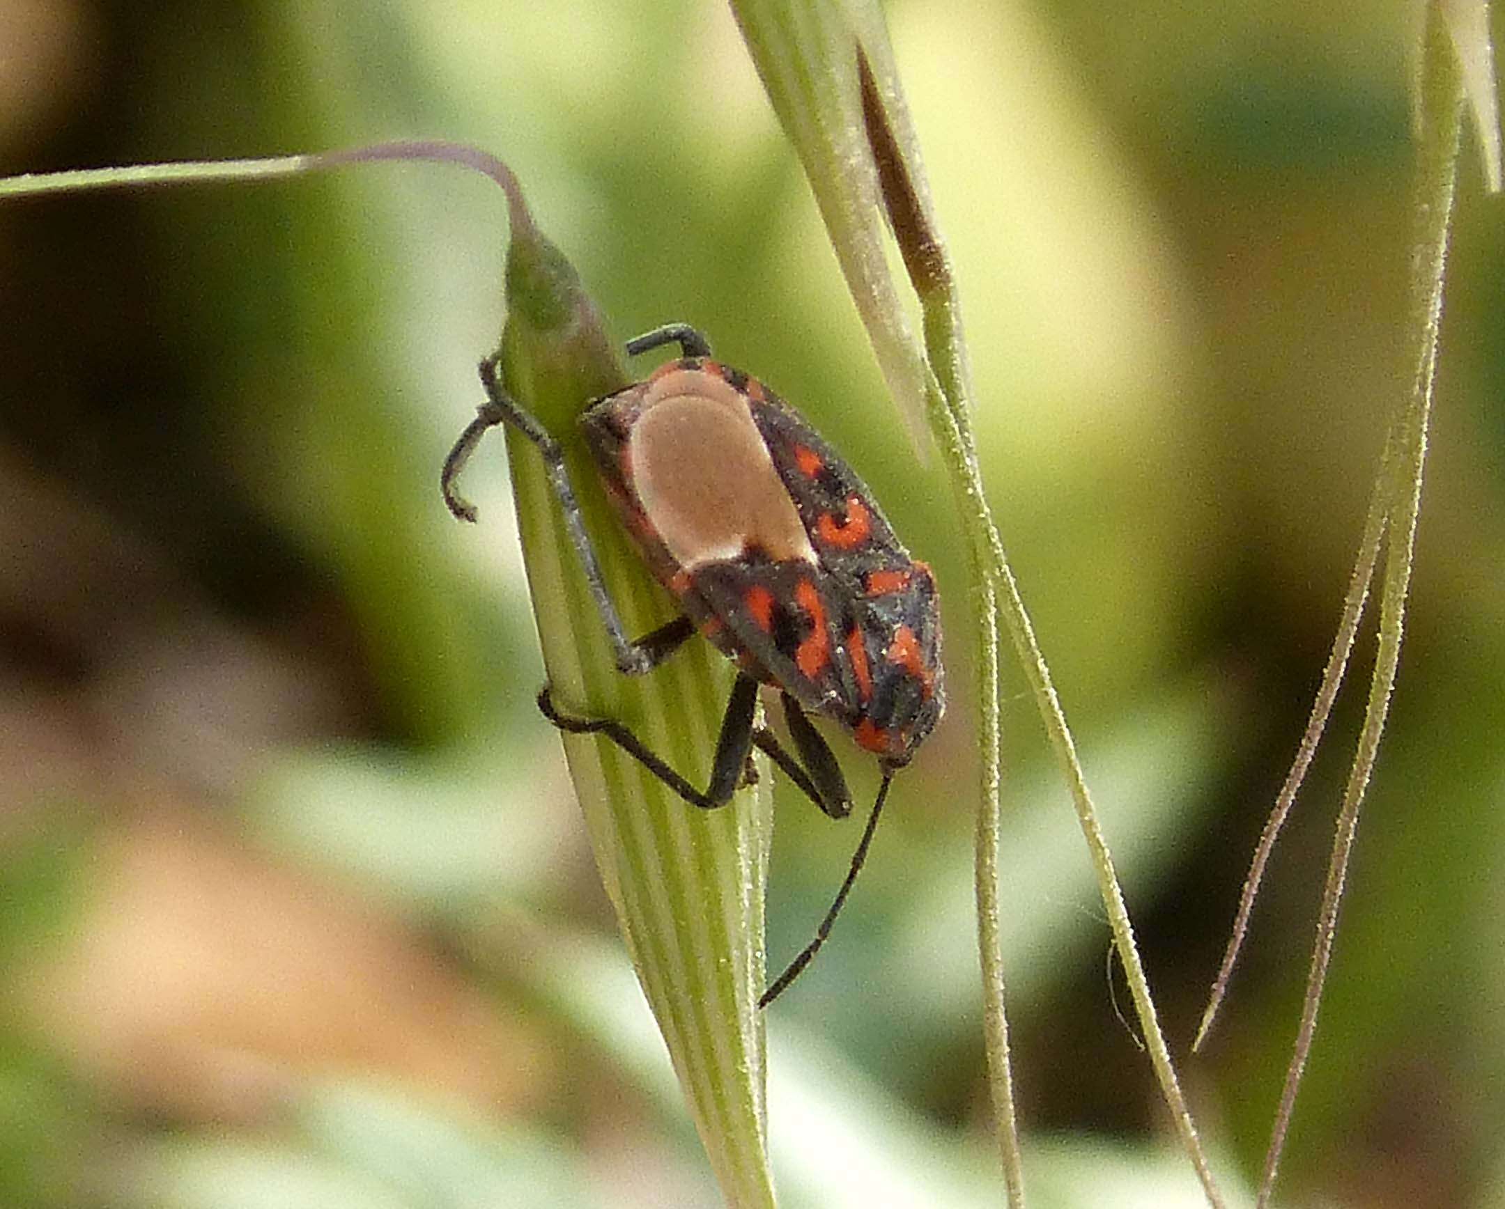
[{"label": "black and red bug with tan back patch on spikelet", "polygon": [[[632,641],[607,592],[560,444],[519,408],[495,359],[482,362],[488,401],[444,463],[450,510],[474,520],[455,478],[482,435],[512,424],[543,454],[591,595],[626,674],[655,668],[697,630],[737,665],[710,782],[697,789],[613,719],[572,717],[549,686],[539,708],[563,731],[599,734],[641,761],[685,801],[724,806],[757,746],[832,818],[852,811],[846,777],[807,717],[850,731],[877,756],[882,785],[852,866],[814,940],[759,1000],[766,1008],[825,943],[867,857],[894,771],[909,762],[945,708],[935,579],[894,537],[850,466],[757,379],[710,356],[685,323],[628,341],[628,355],[679,344],[646,380],[597,398],[581,415],[607,495],[679,615]],[[780,690],[798,758],[754,723],[757,690]]]}]

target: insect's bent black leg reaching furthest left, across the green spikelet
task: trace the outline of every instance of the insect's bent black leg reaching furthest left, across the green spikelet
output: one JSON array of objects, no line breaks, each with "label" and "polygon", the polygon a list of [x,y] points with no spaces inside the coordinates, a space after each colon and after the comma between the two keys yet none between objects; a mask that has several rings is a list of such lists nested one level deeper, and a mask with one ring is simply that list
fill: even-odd
[{"label": "insect's bent black leg reaching furthest left, across the green spikelet", "polygon": [[[560,502],[564,514],[564,528],[569,531],[570,544],[579,555],[581,570],[585,573],[585,583],[590,597],[596,601],[596,611],[607,626],[607,636],[617,657],[617,669],[628,675],[641,675],[658,662],[652,651],[644,651],[628,638],[617,615],[616,604],[607,594],[607,583],[600,576],[600,565],[596,562],[596,547],[590,544],[590,534],[585,532],[585,519],[581,516],[579,504],[575,499],[575,489],[569,481],[569,471],[564,468],[564,451],[549,433],[528,412],[519,408],[506,388],[501,385],[501,367],[497,358],[489,356],[480,362],[480,380],[486,388],[486,401],[477,409],[476,418],[470,423],[461,439],[455,442],[450,456],[444,459],[444,471],[439,475],[439,489],[444,492],[444,502],[461,520],[474,520],[476,508],[455,490],[455,480],[459,477],[470,456],[476,451],[482,436],[488,429],[498,424],[512,424],[519,433],[531,441],[543,456],[549,474],[549,486]],[[667,653],[665,653],[667,654]],[[662,656],[659,656],[662,659]]]}]

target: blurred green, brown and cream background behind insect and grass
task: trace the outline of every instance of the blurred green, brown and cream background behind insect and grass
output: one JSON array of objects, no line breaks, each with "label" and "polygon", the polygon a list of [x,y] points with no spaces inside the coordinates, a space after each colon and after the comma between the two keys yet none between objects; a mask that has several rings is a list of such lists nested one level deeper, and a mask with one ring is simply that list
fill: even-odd
[{"label": "blurred green, brown and cream background behind insect and grass", "polygon": [[[1406,382],[1412,6],[888,15],[999,526],[1237,1188],[1362,693],[1207,1054],[1184,1047]],[[691,320],[796,401],[965,636],[948,492],[719,5],[0,0],[6,171],[406,135],[506,158],[620,337]],[[479,528],[436,490],[504,316],[503,214],[433,167],[0,208],[0,1203],[718,1203],[533,708],[500,448],[467,480]],[[1288,1204],[1505,1204],[1502,233],[1470,156],[1400,690]],[[772,1014],[789,1204],[1001,1201],[965,648],[835,943]],[[1196,1204],[1066,791],[1011,672],[1005,693],[1031,1203]],[[772,964],[852,842],[781,803]]]}]

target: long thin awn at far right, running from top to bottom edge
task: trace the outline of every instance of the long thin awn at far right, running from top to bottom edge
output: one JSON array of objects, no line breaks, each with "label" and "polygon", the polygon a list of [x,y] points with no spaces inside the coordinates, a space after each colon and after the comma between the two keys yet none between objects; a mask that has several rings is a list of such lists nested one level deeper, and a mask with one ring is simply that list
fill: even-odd
[{"label": "long thin awn at far right, running from top to bottom edge", "polygon": [[1359,734],[1359,746],[1338,814],[1327,880],[1317,916],[1317,935],[1306,976],[1302,1018],[1297,1026],[1296,1044],[1291,1047],[1291,1060],[1264,1156],[1264,1173],[1257,1198],[1260,1209],[1269,1204],[1275,1191],[1281,1153],[1296,1108],[1296,1093],[1317,1032],[1317,1014],[1321,1006],[1327,967],[1332,961],[1338,910],[1359,826],[1359,809],[1374,771],[1380,737],[1389,714],[1391,695],[1395,689],[1395,675],[1400,668],[1416,517],[1421,513],[1422,474],[1427,460],[1427,427],[1437,370],[1437,334],[1442,326],[1448,230],[1458,176],[1463,101],[1463,81],[1446,21],[1437,5],[1428,5],[1422,42],[1416,221],[1409,287],[1413,338],[1407,356],[1413,371],[1412,388],[1401,405],[1398,448],[1395,457],[1386,459],[1380,471],[1388,496],[1389,543],[1380,586],[1379,651],[1370,683],[1364,728]]}]

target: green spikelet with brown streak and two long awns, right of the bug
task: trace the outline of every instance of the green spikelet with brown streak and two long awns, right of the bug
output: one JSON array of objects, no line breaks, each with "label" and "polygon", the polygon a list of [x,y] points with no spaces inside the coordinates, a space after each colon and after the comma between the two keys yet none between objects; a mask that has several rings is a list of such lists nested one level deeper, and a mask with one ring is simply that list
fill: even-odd
[{"label": "green spikelet with brown streak and two long awns, right of the bug", "polygon": [[[879,364],[901,365],[918,356],[924,365],[924,412],[930,432],[942,448],[957,498],[966,534],[972,597],[989,608],[974,636],[983,756],[977,824],[978,947],[992,1101],[1010,1200],[1016,1206],[1022,1204],[1023,1176],[1008,1077],[1004,982],[998,967],[998,639],[996,618],[992,615],[998,595],[1002,597],[1004,620],[1072,786],[1162,1093],[1209,1200],[1221,1204],[1175,1083],[1169,1051],[1135,952],[1123,895],[1070,731],[989,513],[968,418],[971,383],[954,277],[935,223],[918,141],[903,105],[882,14],[874,5],[864,3],[781,5],[775,0],[734,0],[733,9],[774,110],[804,162]],[[882,232],[876,221],[879,208],[888,218],[920,299],[924,343],[918,353],[888,284]],[[874,299],[880,311],[876,322],[868,314]],[[891,389],[903,401],[895,377],[888,376]]]}]

